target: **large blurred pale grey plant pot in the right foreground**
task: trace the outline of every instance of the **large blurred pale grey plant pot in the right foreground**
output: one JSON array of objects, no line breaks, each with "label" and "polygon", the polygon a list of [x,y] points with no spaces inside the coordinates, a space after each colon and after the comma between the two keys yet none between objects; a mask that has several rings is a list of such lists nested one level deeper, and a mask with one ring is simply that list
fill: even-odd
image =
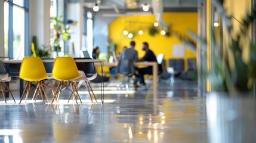
[{"label": "large blurred pale grey plant pot in the right foreground", "polygon": [[206,110],[209,142],[256,142],[254,97],[213,92]]}]

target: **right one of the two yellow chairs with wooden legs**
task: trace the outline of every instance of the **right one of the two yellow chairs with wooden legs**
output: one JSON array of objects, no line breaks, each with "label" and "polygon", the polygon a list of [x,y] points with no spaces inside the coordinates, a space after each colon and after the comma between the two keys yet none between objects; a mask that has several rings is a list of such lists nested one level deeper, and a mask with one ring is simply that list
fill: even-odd
[{"label": "right one of the two yellow chairs with wooden legs", "polygon": [[[73,80],[78,79],[81,76],[78,73],[78,68],[76,67],[76,63],[72,57],[55,58],[51,76],[55,80],[60,81],[60,83],[58,83],[57,89],[55,90],[53,101],[55,99],[55,96],[58,94],[57,96],[57,103],[58,103],[58,100],[60,99],[60,93],[63,90],[63,87],[64,88],[66,87],[64,85],[65,82],[69,82],[70,88],[72,89],[73,98],[75,98],[76,100],[76,97],[78,97],[79,100],[81,101],[81,98],[79,97],[79,94],[78,94],[78,90],[76,89],[75,82],[73,82]],[[51,104],[53,104],[53,101],[51,102]],[[76,104],[78,104],[77,100],[76,100]]]}]

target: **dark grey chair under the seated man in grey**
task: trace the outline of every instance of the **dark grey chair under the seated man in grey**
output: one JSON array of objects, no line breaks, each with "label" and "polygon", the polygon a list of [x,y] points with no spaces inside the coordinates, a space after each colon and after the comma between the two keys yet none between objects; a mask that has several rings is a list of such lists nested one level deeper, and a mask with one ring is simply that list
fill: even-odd
[{"label": "dark grey chair under the seated man in grey", "polygon": [[125,85],[125,88],[127,89],[127,91],[129,91],[129,78],[135,74],[132,60],[119,60],[118,67],[116,68],[116,73],[122,74],[124,76],[124,80],[122,80],[121,85],[118,85],[118,87],[122,87],[123,85]]}]

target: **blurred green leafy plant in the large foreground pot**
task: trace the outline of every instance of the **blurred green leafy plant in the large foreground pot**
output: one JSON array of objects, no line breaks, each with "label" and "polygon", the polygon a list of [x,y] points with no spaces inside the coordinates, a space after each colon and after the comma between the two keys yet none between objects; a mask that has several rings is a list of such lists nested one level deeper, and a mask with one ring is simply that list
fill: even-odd
[{"label": "blurred green leafy plant in the large foreground pot", "polygon": [[[223,43],[217,42],[215,35],[213,34],[213,27],[211,28],[211,48],[212,50],[212,62],[211,69],[207,69],[203,66],[203,74],[211,82],[213,91],[227,91],[227,92],[249,92],[254,88],[256,80],[256,45],[251,41],[249,36],[250,26],[252,21],[256,18],[255,9],[251,14],[246,14],[241,22],[242,26],[239,29],[237,35],[233,35],[233,25],[230,23],[232,16],[227,16],[223,1],[212,1],[212,4],[216,7],[216,10],[223,18],[223,29],[226,36],[223,39]],[[200,44],[203,53],[206,55],[207,42],[205,39],[200,38],[192,31],[188,32],[190,38],[196,43]],[[192,51],[196,51],[195,42],[189,38],[174,34],[178,36],[188,48]],[[202,61],[203,65],[206,65],[206,61]]]}]

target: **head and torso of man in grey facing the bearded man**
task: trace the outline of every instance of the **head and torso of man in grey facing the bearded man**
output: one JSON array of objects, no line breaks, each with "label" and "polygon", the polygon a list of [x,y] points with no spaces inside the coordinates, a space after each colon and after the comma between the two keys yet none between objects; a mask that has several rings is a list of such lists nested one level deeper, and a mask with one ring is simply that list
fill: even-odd
[{"label": "head and torso of man in grey facing the bearded man", "polygon": [[138,61],[138,52],[135,48],[135,41],[129,42],[129,48],[124,48],[120,54],[119,60],[128,59],[132,61]]}]

